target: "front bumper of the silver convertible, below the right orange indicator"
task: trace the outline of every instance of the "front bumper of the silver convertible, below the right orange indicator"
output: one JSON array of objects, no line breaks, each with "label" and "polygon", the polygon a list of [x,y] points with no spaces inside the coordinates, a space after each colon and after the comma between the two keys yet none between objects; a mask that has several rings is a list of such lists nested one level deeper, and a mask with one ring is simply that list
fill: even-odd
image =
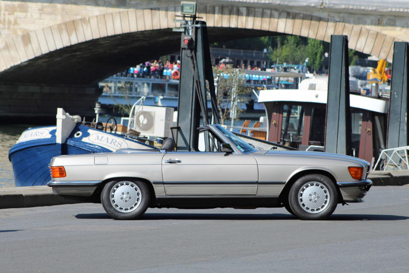
[{"label": "front bumper of the silver convertible, below the right orange indicator", "polygon": [[370,179],[354,182],[337,182],[342,198],[347,203],[363,202],[363,198],[372,187]]}]

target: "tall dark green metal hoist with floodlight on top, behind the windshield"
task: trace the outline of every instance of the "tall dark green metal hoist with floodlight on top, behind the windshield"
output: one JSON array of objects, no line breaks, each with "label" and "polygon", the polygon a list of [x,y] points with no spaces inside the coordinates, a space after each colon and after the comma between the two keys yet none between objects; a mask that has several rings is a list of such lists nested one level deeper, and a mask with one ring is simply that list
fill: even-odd
[{"label": "tall dark green metal hoist with floodlight on top, behind the windshield", "polygon": [[[178,119],[175,142],[178,151],[197,151],[200,121],[209,124],[220,123],[217,112],[217,99],[213,70],[210,58],[207,26],[197,20],[196,2],[181,2],[181,20],[175,20],[181,27],[173,31],[181,36],[181,73],[179,83]],[[210,97],[211,115],[207,111],[207,98]],[[205,138],[205,145],[208,140]]]}]

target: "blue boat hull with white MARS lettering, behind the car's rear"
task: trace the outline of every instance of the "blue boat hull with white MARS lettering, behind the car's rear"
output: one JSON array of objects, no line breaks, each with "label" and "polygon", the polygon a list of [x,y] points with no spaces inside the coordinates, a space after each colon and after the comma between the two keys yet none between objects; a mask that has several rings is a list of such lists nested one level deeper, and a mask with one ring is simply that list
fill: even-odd
[{"label": "blue boat hull with white MARS lettering, behind the car's rear", "polygon": [[[46,185],[51,180],[48,164],[54,156],[113,152],[119,148],[154,147],[123,136],[75,125],[65,143],[56,143],[56,127],[30,128],[9,151],[16,187]],[[122,140],[121,140],[122,139]]]}]

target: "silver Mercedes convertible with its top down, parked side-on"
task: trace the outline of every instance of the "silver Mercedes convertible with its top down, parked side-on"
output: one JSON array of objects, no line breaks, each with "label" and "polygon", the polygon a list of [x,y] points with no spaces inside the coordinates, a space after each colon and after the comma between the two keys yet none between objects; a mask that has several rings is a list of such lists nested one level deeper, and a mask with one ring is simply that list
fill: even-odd
[{"label": "silver Mercedes convertible with its top down, parked side-on", "polygon": [[101,202],[114,219],[137,219],[152,208],[285,207],[300,219],[330,216],[337,204],[362,202],[372,186],[369,163],[321,152],[256,149],[221,125],[198,128],[197,152],[160,150],[56,156],[57,195]]}]

